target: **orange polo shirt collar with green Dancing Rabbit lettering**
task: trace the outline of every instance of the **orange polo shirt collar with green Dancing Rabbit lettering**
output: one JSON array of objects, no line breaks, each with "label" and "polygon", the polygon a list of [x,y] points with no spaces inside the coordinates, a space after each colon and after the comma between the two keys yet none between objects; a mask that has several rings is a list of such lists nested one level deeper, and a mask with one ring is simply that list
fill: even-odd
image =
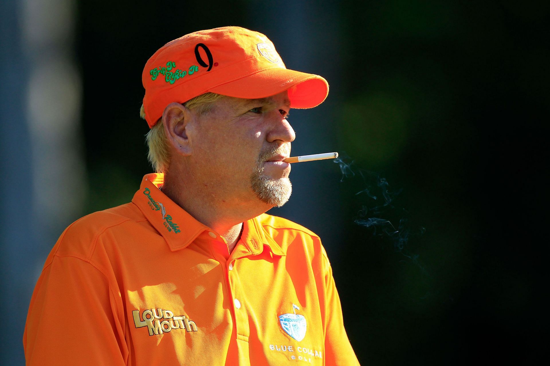
[{"label": "orange polo shirt collar with green Dancing Rabbit lettering", "polygon": [[[162,193],[159,187],[163,184],[164,174],[146,174],[141,181],[140,189],[134,194],[132,202],[139,207],[151,225],[166,240],[170,250],[183,249],[204,232],[213,232],[219,236],[218,233],[197,221],[197,219]],[[208,235],[201,235],[201,238],[210,237]],[[241,240],[252,255],[260,254],[265,245],[271,249],[273,254],[279,256],[285,255],[281,246],[270,235],[266,235],[259,217],[251,218],[243,223]]]}]

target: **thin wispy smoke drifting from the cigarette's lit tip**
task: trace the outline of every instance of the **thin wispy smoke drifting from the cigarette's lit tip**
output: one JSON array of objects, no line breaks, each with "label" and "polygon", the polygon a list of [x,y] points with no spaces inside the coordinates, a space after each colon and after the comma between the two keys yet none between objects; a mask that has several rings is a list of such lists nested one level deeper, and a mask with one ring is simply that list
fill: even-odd
[{"label": "thin wispy smoke drifting from the cigarette's lit tip", "polygon": [[[386,178],[382,178],[375,172],[352,167],[354,161],[345,154],[341,155],[344,156],[333,160],[340,166],[342,172],[340,182],[344,182],[344,179],[360,178],[359,184],[362,189],[355,195],[358,198],[364,198],[365,201],[361,210],[357,212],[354,222],[371,230],[372,235],[381,239],[387,238],[396,252],[409,258],[423,274],[427,274],[425,267],[419,261],[419,255],[409,251],[410,238],[422,235],[426,229],[421,226],[412,227],[409,222],[409,212],[403,207],[394,205],[394,200],[401,193],[401,189],[390,189]],[[394,225],[394,223],[398,224]]]}]

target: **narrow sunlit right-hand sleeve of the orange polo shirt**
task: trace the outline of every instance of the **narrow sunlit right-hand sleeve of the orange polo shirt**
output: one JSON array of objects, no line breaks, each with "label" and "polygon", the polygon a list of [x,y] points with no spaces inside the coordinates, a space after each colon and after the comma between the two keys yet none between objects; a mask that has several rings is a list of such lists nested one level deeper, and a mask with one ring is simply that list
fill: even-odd
[{"label": "narrow sunlit right-hand sleeve of the orange polo shirt", "polygon": [[326,331],[324,336],[324,362],[326,365],[359,365],[344,329],[342,306],[332,277],[332,267],[325,258]]}]

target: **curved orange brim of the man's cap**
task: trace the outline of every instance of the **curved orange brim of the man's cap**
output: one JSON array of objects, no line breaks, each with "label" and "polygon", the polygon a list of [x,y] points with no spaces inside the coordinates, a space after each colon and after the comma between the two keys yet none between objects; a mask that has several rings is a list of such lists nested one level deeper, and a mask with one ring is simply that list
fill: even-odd
[{"label": "curved orange brim of the man's cap", "polygon": [[291,108],[313,108],[327,98],[328,82],[319,75],[277,67],[218,85],[208,89],[208,92],[258,99],[271,97],[287,89]]}]

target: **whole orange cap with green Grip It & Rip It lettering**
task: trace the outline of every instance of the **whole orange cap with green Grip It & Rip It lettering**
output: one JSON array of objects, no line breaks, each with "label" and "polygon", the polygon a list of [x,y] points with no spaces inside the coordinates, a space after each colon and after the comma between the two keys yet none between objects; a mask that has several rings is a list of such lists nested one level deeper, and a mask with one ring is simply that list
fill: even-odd
[{"label": "whole orange cap with green Grip It & Rip It lettering", "polygon": [[313,108],[328,95],[323,77],[288,70],[265,35],[241,27],[194,32],[166,43],[147,61],[141,80],[149,127],[168,104],[206,92],[257,99],[288,89],[292,108]]}]

